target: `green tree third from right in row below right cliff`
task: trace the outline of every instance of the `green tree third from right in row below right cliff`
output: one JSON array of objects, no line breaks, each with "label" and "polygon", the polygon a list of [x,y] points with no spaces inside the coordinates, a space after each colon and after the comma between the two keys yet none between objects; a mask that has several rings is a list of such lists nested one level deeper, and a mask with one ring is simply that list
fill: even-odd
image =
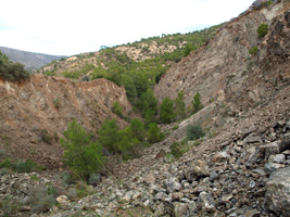
[{"label": "green tree third from right in row below right cliff", "polygon": [[163,123],[169,124],[175,117],[174,102],[171,98],[166,97],[160,105],[160,119]]}]

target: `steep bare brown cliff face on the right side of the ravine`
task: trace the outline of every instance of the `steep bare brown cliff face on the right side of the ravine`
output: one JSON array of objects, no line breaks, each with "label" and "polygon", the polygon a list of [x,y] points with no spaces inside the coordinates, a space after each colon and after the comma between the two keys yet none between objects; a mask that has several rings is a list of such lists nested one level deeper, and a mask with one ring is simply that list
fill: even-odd
[{"label": "steep bare brown cliff face on the right side of the ravine", "polygon": [[[186,104],[200,92],[202,103],[230,104],[244,111],[265,102],[277,89],[289,85],[289,3],[247,12],[228,23],[207,46],[192,52],[163,75],[155,94],[176,98],[184,91]],[[268,24],[266,37],[256,29]],[[257,53],[249,50],[257,47]],[[276,89],[275,91],[273,91]]]}]

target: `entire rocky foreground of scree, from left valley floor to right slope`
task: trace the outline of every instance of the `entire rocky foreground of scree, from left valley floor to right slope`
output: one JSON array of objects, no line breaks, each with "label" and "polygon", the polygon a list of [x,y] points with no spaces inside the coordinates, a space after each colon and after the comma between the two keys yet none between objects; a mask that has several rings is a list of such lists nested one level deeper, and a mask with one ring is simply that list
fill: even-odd
[{"label": "entire rocky foreground of scree, from left valley floor to right slope", "polygon": [[[114,175],[89,187],[92,195],[75,201],[67,186],[53,199],[58,206],[33,216],[289,216],[289,94],[244,113],[174,162],[166,156],[173,132],[142,157],[116,165]],[[41,188],[58,184],[50,175],[4,175],[0,193],[26,203],[18,216],[28,216]]]}]

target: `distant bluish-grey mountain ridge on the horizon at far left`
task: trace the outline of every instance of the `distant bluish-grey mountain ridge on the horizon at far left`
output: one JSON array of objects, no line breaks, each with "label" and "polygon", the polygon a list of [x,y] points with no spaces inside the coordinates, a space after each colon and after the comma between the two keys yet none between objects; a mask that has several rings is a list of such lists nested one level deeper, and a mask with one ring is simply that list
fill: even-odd
[{"label": "distant bluish-grey mountain ridge on the horizon at far left", "polygon": [[0,47],[0,51],[5,55],[8,55],[10,61],[20,62],[24,64],[25,69],[30,72],[36,72],[37,69],[40,69],[43,65],[50,63],[51,61],[66,58],[65,55],[49,55],[43,53],[34,53],[5,47]]}]

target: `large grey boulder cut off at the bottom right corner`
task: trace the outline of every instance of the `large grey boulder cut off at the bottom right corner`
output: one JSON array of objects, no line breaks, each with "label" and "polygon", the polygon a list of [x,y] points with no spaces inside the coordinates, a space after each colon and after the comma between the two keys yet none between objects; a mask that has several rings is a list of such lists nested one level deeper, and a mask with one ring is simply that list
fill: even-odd
[{"label": "large grey boulder cut off at the bottom right corner", "polygon": [[264,208],[283,217],[290,216],[290,166],[272,174],[266,183]]}]

